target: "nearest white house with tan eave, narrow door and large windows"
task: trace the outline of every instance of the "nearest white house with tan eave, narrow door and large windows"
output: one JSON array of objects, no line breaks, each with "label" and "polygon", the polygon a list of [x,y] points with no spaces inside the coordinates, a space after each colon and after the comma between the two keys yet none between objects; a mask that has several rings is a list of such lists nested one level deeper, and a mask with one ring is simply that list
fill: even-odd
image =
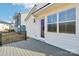
[{"label": "nearest white house with tan eave, narrow door and large windows", "polygon": [[37,7],[26,17],[27,35],[79,54],[79,4],[47,3]]}]

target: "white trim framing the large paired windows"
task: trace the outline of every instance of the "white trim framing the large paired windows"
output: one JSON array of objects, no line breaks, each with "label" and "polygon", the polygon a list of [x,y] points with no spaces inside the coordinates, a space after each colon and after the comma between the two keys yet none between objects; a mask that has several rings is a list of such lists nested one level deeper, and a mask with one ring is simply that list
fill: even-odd
[{"label": "white trim framing the large paired windows", "polygon": [[[75,8],[75,7],[73,7],[73,8]],[[72,9],[72,8],[69,8],[69,9]],[[66,10],[64,10],[64,11],[67,11],[67,10],[69,10],[69,9],[66,9]],[[60,11],[60,12],[64,12],[64,11]],[[52,31],[48,31],[47,30],[47,32],[50,32],[50,33],[57,33],[57,34],[66,34],[66,35],[76,35],[76,30],[75,30],[75,34],[72,34],[72,33],[61,33],[61,32],[59,32],[59,24],[60,23],[66,23],[66,22],[76,22],[76,19],[75,20],[67,20],[67,21],[59,21],[59,13],[60,12],[56,12],[56,15],[57,15],[57,22],[54,22],[54,23],[48,23],[47,22],[47,25],[49,25],[49,24],[57,24],[57,31],[56,32],[52,32]],[[52,13],[52,14],[55,14],[55,13]],[[49,15],[51,15],[51,14],[49,14]],[[75,16],[76,17],[76,16]],[[48,20],[48,19],[47,19]],[[75,27],[76,27],[76,24],[75,24]],[[47,27],[47,29],[48,29],[48,27]],[[76,29],[76,28],[75,28]]]}]

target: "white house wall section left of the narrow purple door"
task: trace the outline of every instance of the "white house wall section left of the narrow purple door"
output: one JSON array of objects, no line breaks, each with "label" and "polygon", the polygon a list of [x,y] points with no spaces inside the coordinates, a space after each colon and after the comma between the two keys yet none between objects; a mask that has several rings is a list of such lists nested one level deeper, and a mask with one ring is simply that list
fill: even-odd
[{"label": "white house wall section left of the narrow purple door", "polygon": [[[35,19],[35,23],[34,23]],[[27,36],[35,38],[37,40],[44,41],[44,38],[41,38],[41,26],[40,20],[37,20],[33,15],[30,16],[28,20],[26,20],[26,31]]]}]

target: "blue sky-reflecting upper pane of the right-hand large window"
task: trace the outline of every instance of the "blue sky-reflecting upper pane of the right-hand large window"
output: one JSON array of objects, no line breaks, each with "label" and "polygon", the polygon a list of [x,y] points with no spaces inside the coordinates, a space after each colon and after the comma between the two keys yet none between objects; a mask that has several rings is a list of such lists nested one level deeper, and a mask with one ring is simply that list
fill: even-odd
[{"label": "blue sky-reflecting upper pane of the right-hand large window", "polygon": [[59,13],[59,21],[76,20],[75,8],[63,11]]}]

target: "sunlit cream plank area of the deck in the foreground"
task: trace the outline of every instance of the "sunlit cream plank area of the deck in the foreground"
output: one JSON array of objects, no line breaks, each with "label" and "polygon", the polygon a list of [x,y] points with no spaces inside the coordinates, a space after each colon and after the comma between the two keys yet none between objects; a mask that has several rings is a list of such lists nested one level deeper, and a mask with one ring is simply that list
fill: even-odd
[{"label": "sunlit cream plank area of the deck in the foreground", "polygon": [[10,46],[0,47],[0,56],[39,56],[39,55],[44,54],[17,47],[10,47]]}]

